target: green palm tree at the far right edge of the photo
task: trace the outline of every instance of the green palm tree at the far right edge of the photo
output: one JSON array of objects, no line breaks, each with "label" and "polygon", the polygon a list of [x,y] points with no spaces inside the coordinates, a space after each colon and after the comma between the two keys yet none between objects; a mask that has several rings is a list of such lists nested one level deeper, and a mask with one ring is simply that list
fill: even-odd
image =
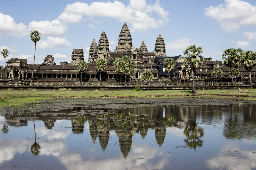
[{"label": "green palm tree at the far right edge of the photo", "polygon": [[250,72],[250,86],[252,88],[252,77],[251,70],[256,67],[256,53],[254,51],[245,51],[242,56],[242,65],[243,67]]}]

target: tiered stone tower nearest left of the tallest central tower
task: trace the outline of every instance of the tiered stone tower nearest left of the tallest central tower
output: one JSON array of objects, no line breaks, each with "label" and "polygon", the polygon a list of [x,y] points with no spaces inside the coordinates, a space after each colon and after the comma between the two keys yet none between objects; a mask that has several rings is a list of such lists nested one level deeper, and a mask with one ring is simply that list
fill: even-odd
[{"label": "tiered stone tower nearest left of the tallest central tower", "polygon": [[102,31],[98,44],[98,58],[106,59],[109,53],[108,37],[104,31]]}]

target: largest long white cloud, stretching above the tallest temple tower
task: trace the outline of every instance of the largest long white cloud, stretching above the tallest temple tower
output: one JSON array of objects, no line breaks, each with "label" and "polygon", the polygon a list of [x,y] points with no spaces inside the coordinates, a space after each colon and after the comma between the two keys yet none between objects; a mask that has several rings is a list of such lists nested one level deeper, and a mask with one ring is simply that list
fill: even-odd
[{"label": "largest long white cloud, stretching above the tallest temple tower", "polygon": [[[152,16],[155,13],[157,18],[161,19],[153,18]],[[145,0],[136,2],[131,0],[128,6],[119,1],[114,1],[113,3],[93,2],[91,5],[84,2],[76,2],[68,4],[64,12],[57,19],[66,23],[79,23],[82,22],[83,15],[90,16],[90,18],[93,16],[115,18],[120,22],[131,23],[130,31],[134,32],[147,31],[148,28],[164,26],[169,21],[167,18],[168,14],[169,12],[164,11],[158,0],[156,0],[154,5],[147,5]]]}]

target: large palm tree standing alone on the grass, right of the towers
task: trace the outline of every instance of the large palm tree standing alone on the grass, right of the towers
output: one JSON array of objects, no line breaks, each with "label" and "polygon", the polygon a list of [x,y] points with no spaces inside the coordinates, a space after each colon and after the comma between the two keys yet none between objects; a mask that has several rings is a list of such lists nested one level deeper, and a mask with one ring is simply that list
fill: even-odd
[{"label": "large palm tree standing alone on the grass, right of the towers", "polygon": [[202,53],[202,47],[196,47],[195,44],[188,46],[183,52],[183,54],[187,55],[183,61],[184,65],[192,68],[193,71],[192,94],[195,94],[195,70],[204,63],[204,58],[201,56]]}]

